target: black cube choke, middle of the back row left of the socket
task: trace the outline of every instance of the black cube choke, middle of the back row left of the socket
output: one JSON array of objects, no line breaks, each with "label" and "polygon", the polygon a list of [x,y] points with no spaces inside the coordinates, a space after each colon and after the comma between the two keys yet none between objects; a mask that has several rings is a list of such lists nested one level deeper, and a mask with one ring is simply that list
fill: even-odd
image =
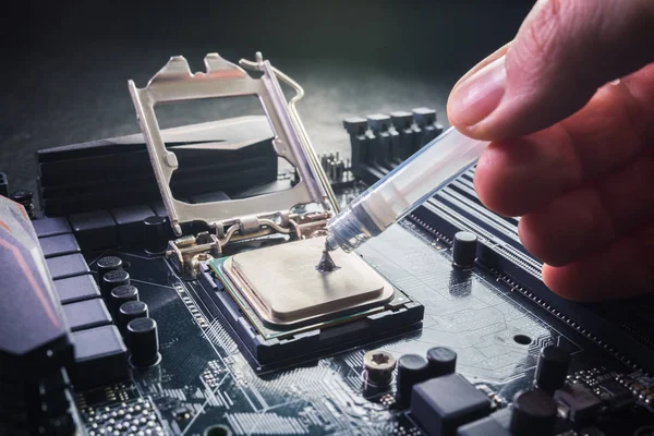
[{"label": "black cube choke, middle of the back row left of the socket", "polygon": [[109,211],[75,214],[69,219],[83,251],[110,249],[117,245],[116,221]]}]

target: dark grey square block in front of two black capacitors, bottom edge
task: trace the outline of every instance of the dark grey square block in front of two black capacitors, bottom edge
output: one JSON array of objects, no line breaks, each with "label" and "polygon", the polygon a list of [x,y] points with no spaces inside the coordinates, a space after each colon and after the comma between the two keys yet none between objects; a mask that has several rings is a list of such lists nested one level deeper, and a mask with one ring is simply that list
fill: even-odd
[{"label": "dark grey square block in front of two black capacitors, bottom edge", "polygon": [[428,436],[453,436],[463,424],[491,413],[491,401],[459,374],[413,387],[411,414]]}]

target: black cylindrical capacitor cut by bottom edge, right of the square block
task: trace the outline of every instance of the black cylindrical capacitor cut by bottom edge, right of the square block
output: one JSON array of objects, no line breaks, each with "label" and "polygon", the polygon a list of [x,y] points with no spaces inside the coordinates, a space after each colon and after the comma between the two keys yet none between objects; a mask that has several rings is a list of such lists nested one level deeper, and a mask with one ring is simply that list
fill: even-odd
[{"label": "black cylindrical capacitor cut by bottom edge, right of the square block", "polygon": [[546,392],[535,389],[520,391],[513,397],[511,434],[514,436],[554,435],[556,402]]}]

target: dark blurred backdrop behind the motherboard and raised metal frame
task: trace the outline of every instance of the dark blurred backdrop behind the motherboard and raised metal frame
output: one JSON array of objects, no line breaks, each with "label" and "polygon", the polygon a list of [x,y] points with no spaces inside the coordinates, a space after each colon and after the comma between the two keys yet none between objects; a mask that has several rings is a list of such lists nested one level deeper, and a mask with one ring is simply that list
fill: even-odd
[{"label": "dark blurred backdrop behind the motherboard and raised metal frame", "polygon": [[[217,51],[263,51],[306,90],[318,149],[346,152],[348,116],[445,104],[458,77],[510,40],[532,1],[62,1],[5,10],[0,171],[36,189],[34,152],[138,132],[126,81],[144,86],[170,56],[194,70]],[[206,109],[174,123],[210,120]]]}]

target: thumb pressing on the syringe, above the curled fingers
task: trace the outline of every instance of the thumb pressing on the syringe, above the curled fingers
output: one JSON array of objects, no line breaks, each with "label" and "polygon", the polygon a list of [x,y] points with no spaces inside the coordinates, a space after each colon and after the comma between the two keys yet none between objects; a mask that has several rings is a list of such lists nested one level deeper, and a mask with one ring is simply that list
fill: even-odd
[{"label": "thumb pressing on the syringe, above the curled fingers", "polygon": [[465,74],[448,117],[480,140],[522,136],[654,61],[654,1],[540,0],[516,39]]}]

